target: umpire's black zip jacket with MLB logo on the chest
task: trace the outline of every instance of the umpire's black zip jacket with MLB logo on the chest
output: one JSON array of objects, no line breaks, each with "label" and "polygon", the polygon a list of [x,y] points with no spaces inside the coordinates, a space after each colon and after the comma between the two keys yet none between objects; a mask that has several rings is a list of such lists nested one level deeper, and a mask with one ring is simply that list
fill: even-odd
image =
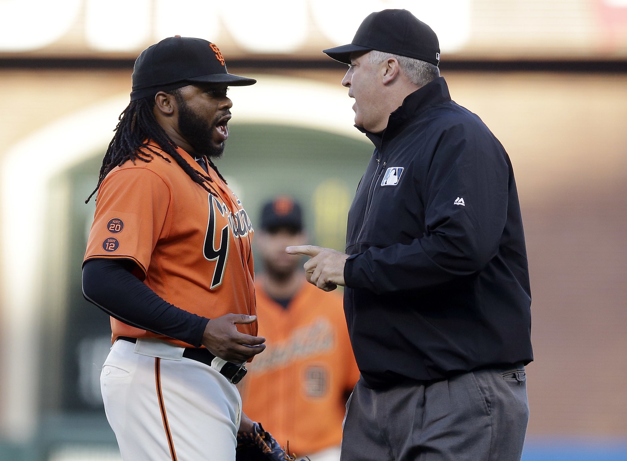
[{"label": "umpire's black zip jacket with MLB logo on the chest", "polygon": [[503,146],[441,77],[366,135],[376,149],[350,207],[344,268],[366,383],[532,361],[527,253]]}]

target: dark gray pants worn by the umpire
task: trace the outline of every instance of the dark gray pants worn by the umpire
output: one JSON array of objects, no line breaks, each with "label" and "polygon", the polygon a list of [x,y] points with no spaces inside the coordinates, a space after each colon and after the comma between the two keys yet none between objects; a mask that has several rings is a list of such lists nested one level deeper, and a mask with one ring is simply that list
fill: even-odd
[{"label": "dark gray pants worn by the umpire", "polygon": [[524,367],[367,388],[347,403],[340,461],[520,461],[529,405]]}]

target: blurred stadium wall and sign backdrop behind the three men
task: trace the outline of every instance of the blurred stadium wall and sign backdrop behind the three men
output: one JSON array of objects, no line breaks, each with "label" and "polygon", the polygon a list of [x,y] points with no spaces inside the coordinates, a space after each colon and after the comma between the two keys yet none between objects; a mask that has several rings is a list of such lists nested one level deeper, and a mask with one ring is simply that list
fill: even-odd
[{"label": "blurred stadium wall and sign backdrop behind the three men", "polygon": [[0,460],[119,460],[83,201],[139,52],[199,36],[258,78],[231,90],[218,166],[253,225],[291,193],[312,241],[341,249],[372,146],[320,50],[384,8],[433,26],[451,96],[514,164],[534,299],[524,460],[627,460],[627,0],[0,0]]}]

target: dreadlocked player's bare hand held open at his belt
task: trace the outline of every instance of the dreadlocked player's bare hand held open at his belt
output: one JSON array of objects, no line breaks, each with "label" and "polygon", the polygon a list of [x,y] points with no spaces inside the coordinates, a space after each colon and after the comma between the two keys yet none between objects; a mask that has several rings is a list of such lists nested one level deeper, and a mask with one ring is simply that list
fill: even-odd
[{"label": "dreadlocked player's bare hand held open at his belt", "polygon": [[240,333],[236,324],[251,324],[256,315],[226,314],[211,319],[204,329],[203,346],[214,356],[233,363],[244,363],[263,352],[266,339]]}]

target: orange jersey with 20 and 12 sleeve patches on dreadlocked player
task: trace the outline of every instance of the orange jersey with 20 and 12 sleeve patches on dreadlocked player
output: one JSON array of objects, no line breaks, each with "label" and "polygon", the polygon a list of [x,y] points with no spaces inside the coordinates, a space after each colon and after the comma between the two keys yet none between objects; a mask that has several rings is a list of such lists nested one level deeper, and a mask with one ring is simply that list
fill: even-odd
[{"label": "orange jersey with 20 and 12 sleeve patches on dreadlocked player", "polygon": [[[209,194],[194,183],[166,152],[164,159],[125,162],[107,174],[98,191],[96,213],[85,261],[92,258],[133,260],[137,275],[156,294],[181,309],[213,319],[220,315],[255,315],[253,226],[240,200],[209,167]],[[179,154],[204,173],[182,149]],[[111,319],[112,341],[118,336],[167,336]],[[238,325],[257,334],[256,322]]]}]

